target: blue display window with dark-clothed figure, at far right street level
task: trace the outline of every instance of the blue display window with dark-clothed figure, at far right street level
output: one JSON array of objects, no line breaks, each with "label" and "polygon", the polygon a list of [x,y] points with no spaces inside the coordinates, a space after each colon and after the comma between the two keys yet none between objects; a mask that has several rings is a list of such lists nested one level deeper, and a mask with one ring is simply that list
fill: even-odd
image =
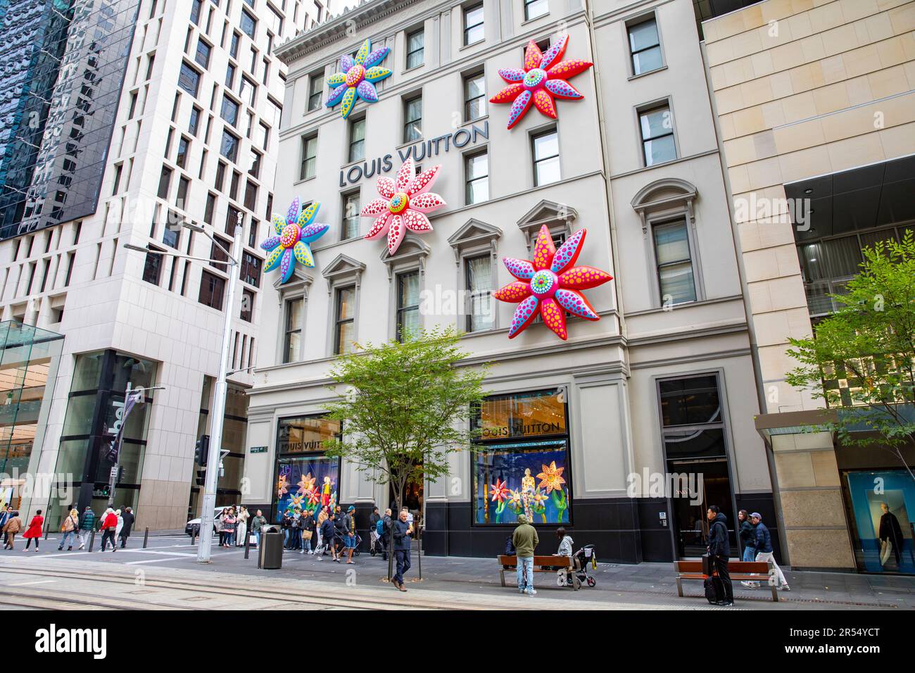
[{"label": "blue display window with dark-clothed figure, at far right street level", "polygon": [[844,472],[858,570],[915,574],[915,482],[905,470]]}]

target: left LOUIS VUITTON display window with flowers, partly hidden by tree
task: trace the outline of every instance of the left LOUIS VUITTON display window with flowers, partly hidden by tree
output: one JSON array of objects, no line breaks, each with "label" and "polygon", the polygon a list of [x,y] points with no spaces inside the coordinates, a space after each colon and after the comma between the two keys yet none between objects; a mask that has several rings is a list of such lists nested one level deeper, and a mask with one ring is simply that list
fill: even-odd
[{"label": "left LOUIS VUITTON display window with flowers, partly hidden by tree", "polygon": [[314,513],[339,502],[338,458],[324,455],[324,440],[339,438],[340,424],[321,416],[280,418],[276,439],[274,521],[300,507]]}]

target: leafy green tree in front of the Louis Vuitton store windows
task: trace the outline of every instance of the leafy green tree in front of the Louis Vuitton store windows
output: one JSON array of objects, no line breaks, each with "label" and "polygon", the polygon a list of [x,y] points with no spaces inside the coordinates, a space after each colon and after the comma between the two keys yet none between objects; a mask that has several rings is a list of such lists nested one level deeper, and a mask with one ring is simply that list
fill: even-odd
[{"label": "leafy green tree in front of the Louis Vuitton store windows", "polygon": [[[337,397],[325,409],[344,440],[324,442],[373,483],[390,483],[397,509],[404,490],[449,472],[448,454],[472,450],[470,409],[484,397],[490,365],[459,367],[468,353],[453,328],[419,331],[404,342],[357,345],[331,370]],[[396,516],[396,513],[395,513]]]}]

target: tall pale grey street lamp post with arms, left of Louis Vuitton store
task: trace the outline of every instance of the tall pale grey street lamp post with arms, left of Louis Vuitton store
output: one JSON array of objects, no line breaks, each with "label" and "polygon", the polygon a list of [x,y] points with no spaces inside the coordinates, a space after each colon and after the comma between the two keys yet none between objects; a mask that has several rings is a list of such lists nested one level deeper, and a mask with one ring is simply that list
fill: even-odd
[{"label": "tall pale grey street lamp post with arms, left of Louis Vuitton store", "polygon": [[[231,317],[232,303],[235,300],[235,286],[241,276],[240,259],[236,259],[231,252],[213,237],[213,235],[198,224],[184,223],[183,226],[194,232],[203,233],[213,244],[219,246],[225,253],[228,261],[214,260],[204,257],[194,257],[191,255],[181,255],[167,251],[153,250],[151,248],[140,247],[139,245],[125,244],[124,247],[130,250],[137,250],[146,254],[153,255],[170,255],[173,257],[184,257],[185,259],[197,260],[200,262],[224,264],[228,266],[229,291],[226,296],[225,321],[222,326],[222,348],[220,352],[220,370],[216,379],[216,390],[213,395],[213,413],[212,423],[210,425],[210,451],[207,454],[207,471],[203,486],[203,502],[200,513],[200,540],[197,548],[197,561],[199,563],[210,562],[210,548],[213,543],[213,510],[216,508],[216,484],[219,480],[219,462],[222,448],[222,424],[225,418],[226,392],[228,385],[226,376],[229,374],[229,342],[231,336]],[[238,220],[235,225],[235,241],[233,249],[236,255],[241,258],[242,251],[242,213],[238,213]]]}]

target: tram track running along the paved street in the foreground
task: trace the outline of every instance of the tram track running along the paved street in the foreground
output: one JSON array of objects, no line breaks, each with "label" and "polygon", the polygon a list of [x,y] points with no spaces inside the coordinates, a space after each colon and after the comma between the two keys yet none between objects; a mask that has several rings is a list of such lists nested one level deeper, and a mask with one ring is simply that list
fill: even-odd
[{"label": "tram track running along the paved street in the foreground", "polygon": [[[322,589],[316,588],[317,593],[312,596],[297,596],[293,592],[289,592],[288,589],[280,587],[238,587],[232,588],[231,590],[221,589],[219,587],[212,587],[201,584],[199,581],[191,581],[186,579],[168,579],[168,578],[149,578],[146,577],[142,583],[138,583],[133,574],[125,576],[123,573],[118,571],[93,571],[93,570],[70,570],[66,568],[55,568],[53,572],[43,569],[31,569],[31,568],[11,568],[9,566],[0,565],[0,572],[5,572],[13,575],[25,576],[25,577],[53,577],[57,579],[65,579],[71,581],[90,581],[90,582],[101,582],[105,584],[120,584],[120,585],[130,585],[134,587],[142,587],[146,590],[161,589],[163,591],[173,591],[173,592],[187,592],[192,593],[195,596],[201,594],[207,595],[210,597],[246,597],[252,599],[260,599],[265,601],[275,601],[283,602],[285,605],[295,606],[299,609],[325,609],[325,608],[349,608],[349,609],[361,609],[361,610],[386,610],[391,609],[392,607],[404,607],[404,608],[418,608],[426,610],[491,610],[492,606],[483,602],[450,602],[442,601],[438,599],[430,599],[422,596],[403,596],[399,595],[398,600],[393,602],[393,596],[390,599],[385,599],[381,596],[369,596],[366,594],[358,594],[354,596],[344,596],[339,592],[339,588],[335,591],[333,589]],[[317,582],[316,582],[317,583]],[[7,585],[8,587],[8,585]],[[351,591],[351,590],[347,590]],[[358,590],[356,590],[358,591]],[[115,609],[123,610],[127,607],[131,609],[175,609],[175,610],[205,610],[206,606],[189,606],[189,605],[172,605],[165,603],[149,603],[149,602],[131,602],[129,606],[124,604],[123,599],[117,598],[105,598],[105,602],[93,602],[83,599],[74,599],[74,598],[58,598],[57,595],[48,595],[48,592],[53,592],[53,589],[39,589],[38,587],[31,586],[29,587],[29,593],[17,593],[6,591],[6,587],[0,588],[0,603],[5,602],[6,604],[23,604],[16,602],[7,602],[5,597],[7,596],[16,596],[23,601],[33,598],[40,598],[41,600],[46,601],[57,601],[62,603],[70,603],[76,606],[76,609],[80,609],[82,605],[86,607],[100,607],[102,609]],[[100,597],[101,598],[101,597]],[[418,599],[418,600],[417,600]],[[181,599],[178,599],[181,600]],[[115,603],[112,603],[115,602]],[[66,608],[64,608],[66,609]],[[522,607],[518,608],[502,608],[502,609],[523,609]]]}]

